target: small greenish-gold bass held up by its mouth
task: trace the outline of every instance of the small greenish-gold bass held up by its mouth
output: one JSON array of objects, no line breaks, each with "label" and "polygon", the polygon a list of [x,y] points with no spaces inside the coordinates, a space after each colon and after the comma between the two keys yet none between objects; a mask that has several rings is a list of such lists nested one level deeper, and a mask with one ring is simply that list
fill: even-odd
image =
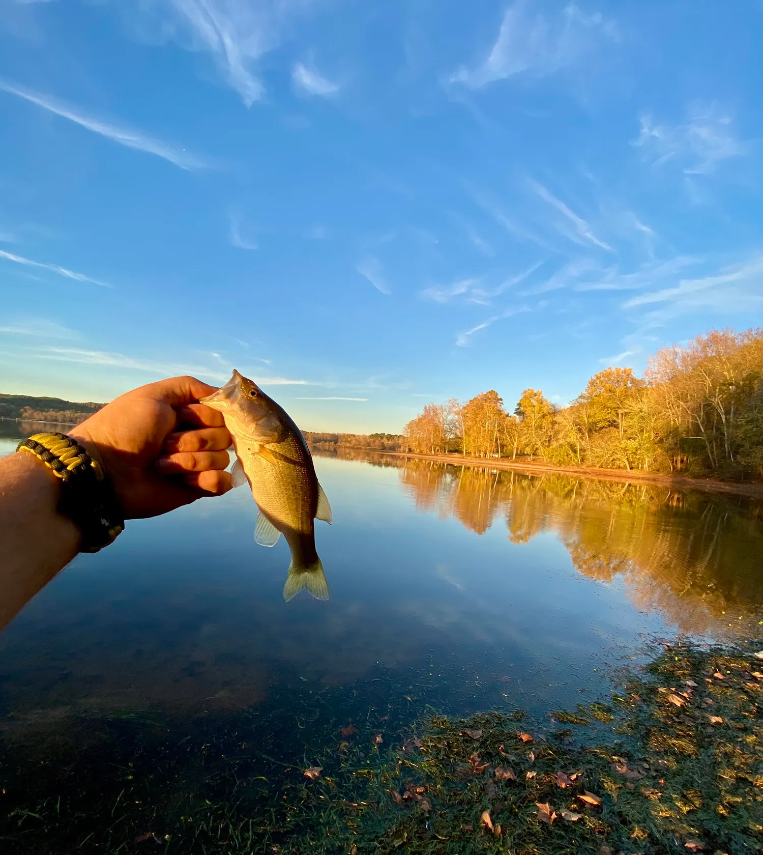
[{"label": "small greenish-gold bass held up by its mouth", "polygon": [[274,546],[283,534],[289,544],[284,599],[288,602],[301,591],[328,599],[314,522],[332,522],[332,509],[299,428],[283,407],[235,370],[225,386],[200,402],[222,414],[232,436],[233,486],[249,483],[260,511],[255,541]]}]

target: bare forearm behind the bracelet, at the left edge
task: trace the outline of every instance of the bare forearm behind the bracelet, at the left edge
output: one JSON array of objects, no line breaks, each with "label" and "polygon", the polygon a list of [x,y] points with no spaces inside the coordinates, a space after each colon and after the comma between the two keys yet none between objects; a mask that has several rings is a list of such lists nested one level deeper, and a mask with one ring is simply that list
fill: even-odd
[{"label": "bare forearm behind the bracelet, at the left edge", "polygon": [[0,629],[79,550],[78,528],[56,510],[60,490],[31,454],[0,459]]}]

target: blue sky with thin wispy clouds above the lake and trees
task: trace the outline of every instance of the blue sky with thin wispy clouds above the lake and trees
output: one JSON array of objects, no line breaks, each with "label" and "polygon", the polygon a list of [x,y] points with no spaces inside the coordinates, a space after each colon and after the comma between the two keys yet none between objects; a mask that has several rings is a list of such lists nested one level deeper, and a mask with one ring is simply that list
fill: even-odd
[{"label": "blue sky with thin wispy clouds above the lake and trees", "polygon": [[0,0],[0,391],[565,403],[763,310],[763,3]]}]

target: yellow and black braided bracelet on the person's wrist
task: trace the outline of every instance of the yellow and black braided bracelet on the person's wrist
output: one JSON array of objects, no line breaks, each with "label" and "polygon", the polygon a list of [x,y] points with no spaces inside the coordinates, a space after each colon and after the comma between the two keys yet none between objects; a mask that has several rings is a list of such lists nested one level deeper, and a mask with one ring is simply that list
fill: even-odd
[{"label": "yellow and black braided bracelet on the person's wrist", "polygon": [[38,457],[62,480],[58,510],[82,533],[82,552],[97,552],[125,528],[120,504],[101,465],[65,433],[35,433],[16,451]]}]

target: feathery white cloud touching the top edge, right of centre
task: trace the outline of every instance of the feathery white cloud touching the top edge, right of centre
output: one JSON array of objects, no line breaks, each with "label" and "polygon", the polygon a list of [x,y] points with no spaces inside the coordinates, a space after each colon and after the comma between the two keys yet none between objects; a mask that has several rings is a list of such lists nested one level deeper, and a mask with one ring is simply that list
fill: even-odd
[{"label": "feathery white cloud touching the top edge, right of centre", "polygon": [[518,0],[504,13],[484,61],[472,69],[462,66],[450,75],[449,82],[478,89],[517,74],[545,77],[578,62],[602,37],[616,36],[612,22],[599,14],[584,15],[574,3],[549,19],[533,12],[532,3]]}]

